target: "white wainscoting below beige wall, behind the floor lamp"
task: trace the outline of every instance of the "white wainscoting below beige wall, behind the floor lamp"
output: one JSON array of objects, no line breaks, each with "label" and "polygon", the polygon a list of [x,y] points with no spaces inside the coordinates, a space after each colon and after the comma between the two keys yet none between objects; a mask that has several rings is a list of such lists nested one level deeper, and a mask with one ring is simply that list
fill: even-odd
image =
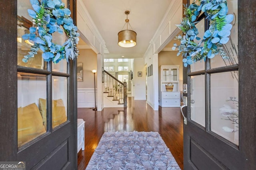
[{"label": "white wainscoting below beige wall, behind the floor lamp", "polygon": [[[77,107],[94,107],[94,88],[77,89]],[[96,106],[97,106],[97,89],[96,89]]]}]

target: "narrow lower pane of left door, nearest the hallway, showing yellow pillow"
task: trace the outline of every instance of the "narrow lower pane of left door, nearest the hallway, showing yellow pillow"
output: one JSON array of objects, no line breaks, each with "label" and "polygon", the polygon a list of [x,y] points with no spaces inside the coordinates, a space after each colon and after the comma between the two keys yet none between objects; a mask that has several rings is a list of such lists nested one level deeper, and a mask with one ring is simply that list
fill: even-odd
[{"label": "narrow lower pane of left door, nearest the hallway, showing yellow pillow", "polygon": [[52,76],[52,128],[67,121],[67,78]]}]

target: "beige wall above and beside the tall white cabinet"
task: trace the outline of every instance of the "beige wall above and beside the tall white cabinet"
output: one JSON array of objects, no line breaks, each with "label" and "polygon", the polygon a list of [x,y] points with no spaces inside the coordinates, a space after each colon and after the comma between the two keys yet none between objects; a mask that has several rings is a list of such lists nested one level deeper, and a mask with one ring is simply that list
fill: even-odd
[{"label": "beige wall above and beside the tall white cabinet", "polygon": [[[182,57],[177,56],[177,51],[161,51],[158,53],[158,67],[161,65],[180,65],[180,91],[183,84],[183,62]],[[160,76],[160,73],[158,74]]]}]

